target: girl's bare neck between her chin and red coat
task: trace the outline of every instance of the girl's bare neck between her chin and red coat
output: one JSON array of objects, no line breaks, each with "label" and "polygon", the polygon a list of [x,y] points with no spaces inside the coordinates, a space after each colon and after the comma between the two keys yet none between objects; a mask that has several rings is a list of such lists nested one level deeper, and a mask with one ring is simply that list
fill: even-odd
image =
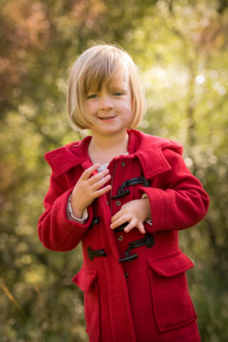
[{"label": "girl's bare neck between her chin and red coat", "polygon": [[93,164],[100,165],[109,163],[114,157],[125,155],[128,152],[128,133],[123,135],[105,136],[104,139],[97,139],[96,135],[88,145],[88,154]]}]

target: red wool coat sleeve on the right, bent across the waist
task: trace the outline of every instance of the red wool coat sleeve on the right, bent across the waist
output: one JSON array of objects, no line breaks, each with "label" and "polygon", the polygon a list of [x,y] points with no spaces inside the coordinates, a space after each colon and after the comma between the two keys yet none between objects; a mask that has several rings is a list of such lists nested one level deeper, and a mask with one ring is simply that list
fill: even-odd
[{"label": "red wool coat sleeve on the right, bent across the waist", "polygon": [[150,200],[151,232],[192,227],[204,218],[209,207],[209,196],[182,156],[168,148],[163,154],[171,169],[160,176],[162,189],[140,188]]}]

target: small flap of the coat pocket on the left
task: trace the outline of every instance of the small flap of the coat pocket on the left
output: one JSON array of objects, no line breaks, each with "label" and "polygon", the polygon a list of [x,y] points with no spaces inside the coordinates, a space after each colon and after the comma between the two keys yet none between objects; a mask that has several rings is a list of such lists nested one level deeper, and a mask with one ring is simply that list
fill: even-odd
[{"label": "small flap of the coat pocket on the left", "polygon": [[97,276],[98,271],[96,269],[86,269],[83,267],[76,276],[73,277],[72,281],[78,285],[82,291],[90,291]]}]

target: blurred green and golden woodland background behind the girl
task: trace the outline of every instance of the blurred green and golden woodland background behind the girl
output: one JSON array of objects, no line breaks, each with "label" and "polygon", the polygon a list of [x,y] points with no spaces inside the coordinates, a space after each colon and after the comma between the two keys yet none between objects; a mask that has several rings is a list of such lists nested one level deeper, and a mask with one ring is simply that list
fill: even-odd
[{"label": "blurred green and golden woodland background behind the girl", "polygon": [[182,142],[211,197],[206,219],[180,232],[203,342],[228,341],[227,0],[0,0],[0,341],[88,341],[71,278],[81,247],[48,251],[36,226],[50,168],[43,154],[80,140],[66,113],[81,51],[116,42],[142,71],[145,133]]}]

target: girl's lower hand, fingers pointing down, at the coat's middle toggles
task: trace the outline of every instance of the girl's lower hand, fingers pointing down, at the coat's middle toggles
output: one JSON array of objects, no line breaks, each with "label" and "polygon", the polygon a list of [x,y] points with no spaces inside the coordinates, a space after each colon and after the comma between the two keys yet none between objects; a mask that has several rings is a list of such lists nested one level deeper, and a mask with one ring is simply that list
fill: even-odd
[{"label": "girl's lower hand, fingers pointing down, at the coat's middle toggles", "polygon": [[112,217],[111,229],[119,227],[125,222],[129,222],[125,227],[126,233],[130,232],[134,227],[138,228],[140,233],[145,234],[143,222],[151,218],[149,199],[134,199],[126,204],[123,204],[120,211]]}]

